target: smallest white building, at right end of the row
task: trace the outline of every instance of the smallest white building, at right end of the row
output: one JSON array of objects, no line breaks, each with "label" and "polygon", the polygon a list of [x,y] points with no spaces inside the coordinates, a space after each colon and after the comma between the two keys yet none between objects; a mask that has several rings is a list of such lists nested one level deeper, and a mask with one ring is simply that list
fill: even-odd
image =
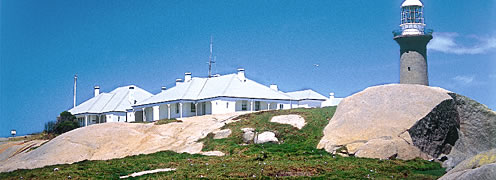
[{"label": "smallest white building, at right end of the row", "polygon": [[296,102],[295,107],[299,108],[322,107],[322,103],[328,100],[327,97],[311,89],[288,92],[286,94],[289,95]]}]

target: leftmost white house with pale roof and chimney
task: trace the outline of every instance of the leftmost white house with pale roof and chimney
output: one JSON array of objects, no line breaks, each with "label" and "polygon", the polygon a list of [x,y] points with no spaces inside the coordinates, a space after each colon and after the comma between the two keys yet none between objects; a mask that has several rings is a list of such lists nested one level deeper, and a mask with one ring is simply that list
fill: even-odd
[{"label": "leftmost white house with pale roof and chimney", "polygon": [[150,98],[153,94],[134,85],[114,89],[109,93],[100,93],[95,86],[94,97],[69,110],[76,116],[81,126],[104,122],[128,122],[126,109]]}]

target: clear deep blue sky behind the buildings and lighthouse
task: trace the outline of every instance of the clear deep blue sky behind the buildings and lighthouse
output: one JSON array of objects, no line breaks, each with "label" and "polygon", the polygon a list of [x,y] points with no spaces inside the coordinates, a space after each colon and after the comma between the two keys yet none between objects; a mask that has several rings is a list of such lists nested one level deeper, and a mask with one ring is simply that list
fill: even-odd
[{"label": "clear deep blue sky behind the buildings and lighthouse", "polygon": [[[399,82],[402,0],[0,0],[0,136],[40,132],[93,86],[154,94],[192,72],[349,96]],[[431,86],[496,107],[496,1],[425,0]],[[319,64],[316,67],[314,64]]]}]

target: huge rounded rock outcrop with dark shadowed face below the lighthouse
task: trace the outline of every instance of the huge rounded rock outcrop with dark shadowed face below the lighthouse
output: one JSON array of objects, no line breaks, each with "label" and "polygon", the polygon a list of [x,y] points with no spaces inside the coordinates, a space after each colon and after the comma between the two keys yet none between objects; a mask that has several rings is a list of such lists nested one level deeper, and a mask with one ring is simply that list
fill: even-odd
[{"label": "huge rounded rock outcrop with dark shadowed face below the lighthouse", "polygon": [[449,170],[496,148],[496,113],[441,88],[370,87],[339,104],[318,148],[381,159],[445,157]]}]

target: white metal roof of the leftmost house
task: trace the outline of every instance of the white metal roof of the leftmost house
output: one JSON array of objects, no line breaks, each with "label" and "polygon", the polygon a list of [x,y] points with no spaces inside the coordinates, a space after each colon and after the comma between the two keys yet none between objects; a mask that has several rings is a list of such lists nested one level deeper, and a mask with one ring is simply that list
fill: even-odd
[{"label": "white metal roof of the leftmost house", "polygon": [[[130,87],[134,87],[134,89],[129,89]],[[126,109],[131,109],[134,100],[140,102],[150,98],[152,95],[148,91],[134,85],[119,87],[109,93],[100,93],[70,109],[69,112],[74,115],[126,112]]]}]

